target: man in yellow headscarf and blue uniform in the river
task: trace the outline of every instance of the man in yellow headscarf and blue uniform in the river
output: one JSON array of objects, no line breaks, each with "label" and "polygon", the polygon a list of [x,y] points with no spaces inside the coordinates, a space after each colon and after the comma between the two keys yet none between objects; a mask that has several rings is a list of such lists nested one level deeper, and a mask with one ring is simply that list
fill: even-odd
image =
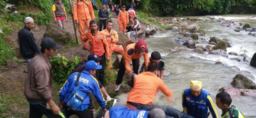
[{"label": "man in yellow headscarf and blue uniform in the river", "polygon": [[183,112],[196,118],[207,118],[208,107],[212,118],[218,118],[218,113],[210,94],[202,89],[201,81],[190,81],[190,88],[182,92]]}]

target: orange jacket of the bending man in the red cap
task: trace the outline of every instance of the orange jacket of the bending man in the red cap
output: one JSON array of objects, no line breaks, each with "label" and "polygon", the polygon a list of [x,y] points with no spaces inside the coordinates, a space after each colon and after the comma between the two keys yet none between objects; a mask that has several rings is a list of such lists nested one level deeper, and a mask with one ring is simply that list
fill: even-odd
[{"label": "orange jacket of the bending man in the red cap", "polygon": [[135,43],[129,44],[125,47],[123,52],[123,59],[125,63],[125,70],[129,73],[132,72],[132,69],[130,67],[130,62],[132,59],[139,59],[142,55],[144,56],[144,62],[146,64],[146,67],[148,67],[149,63],[149,57],[148,57],[148,49],[146,49],[142,55],[138,55],[135,53]]}]

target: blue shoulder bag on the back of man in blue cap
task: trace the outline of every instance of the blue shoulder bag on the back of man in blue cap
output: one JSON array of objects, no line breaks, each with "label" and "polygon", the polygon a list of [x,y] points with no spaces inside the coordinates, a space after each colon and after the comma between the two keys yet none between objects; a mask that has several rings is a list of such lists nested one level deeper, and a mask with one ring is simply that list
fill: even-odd
[{"label": "blue shoulder bag on the back of man in blue cap", "polygon": [[82,92],[79,89],[78,81],[79,81],[80,75],[81,75],[81,72],[78,73],[73,91],[68,96],[68,102],[67,102],[68,110],[72,109],[75,111],[76,109],[78,109],[82,105],[85,97],[87,96],[87,93]]}]

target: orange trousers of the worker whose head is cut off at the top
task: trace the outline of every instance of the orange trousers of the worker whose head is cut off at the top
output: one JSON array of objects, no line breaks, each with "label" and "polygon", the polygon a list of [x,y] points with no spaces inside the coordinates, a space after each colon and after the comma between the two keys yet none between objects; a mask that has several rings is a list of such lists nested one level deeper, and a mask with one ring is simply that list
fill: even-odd
[{"label": "orange trousers of the worker whose head is cut off at the top", "polygon": [[82,38],[85,36],[85,26],[87,27],[88,32],[91,31],[90,21],[91,21],[91,19],[78,20],[78,22],[79,22],[78,32],[80,33],[80,38],[81,38],[81,41],[82,41],[83,45],[86,45],[86,42],[84,40],[82,40]]}]

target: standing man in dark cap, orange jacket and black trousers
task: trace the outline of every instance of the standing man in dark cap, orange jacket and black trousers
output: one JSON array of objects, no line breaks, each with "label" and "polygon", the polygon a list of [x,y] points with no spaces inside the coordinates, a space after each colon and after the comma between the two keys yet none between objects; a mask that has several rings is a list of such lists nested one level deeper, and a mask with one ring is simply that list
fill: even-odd
[{"label": "standing man in dark cap, orange jacket and black trousers", "polygon": [[[102,85],[104,85],[104,75],[105,75],[105,63],[106,63],[106,58],[107,61],[110,61],[110,54],[109,54],[109,47],[108,47],[108,41],[106,36],[98,31],[99,24],[97,23],[96,20],[91,20],[90,21],[90,29],[91,31],[86,33],[84,38],[82,39],[85,42],[85,50],[88,50],[91,52],[91,54],[96,54],[98,57],[102,58],[100,60],[100,65],[102,66],[102,69],[99,71],[99,81]],[[89,42],[91,48],[89,48],[86,44],[86,42]],[[106,51],[105,51],[105,49]]]}]

